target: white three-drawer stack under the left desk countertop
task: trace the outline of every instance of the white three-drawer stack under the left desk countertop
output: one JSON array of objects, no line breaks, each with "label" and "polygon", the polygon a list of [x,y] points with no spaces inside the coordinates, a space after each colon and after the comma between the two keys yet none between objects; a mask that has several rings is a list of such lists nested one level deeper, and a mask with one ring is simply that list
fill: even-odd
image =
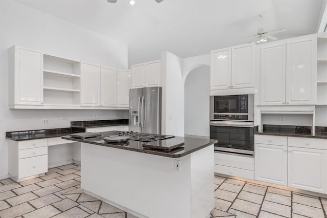
[{"label": "white three-drawer stack under the left desk countertop", "polygon": [[48,139],[9,141],[8,154],[9,175],[17,182],[48,171]]}]

